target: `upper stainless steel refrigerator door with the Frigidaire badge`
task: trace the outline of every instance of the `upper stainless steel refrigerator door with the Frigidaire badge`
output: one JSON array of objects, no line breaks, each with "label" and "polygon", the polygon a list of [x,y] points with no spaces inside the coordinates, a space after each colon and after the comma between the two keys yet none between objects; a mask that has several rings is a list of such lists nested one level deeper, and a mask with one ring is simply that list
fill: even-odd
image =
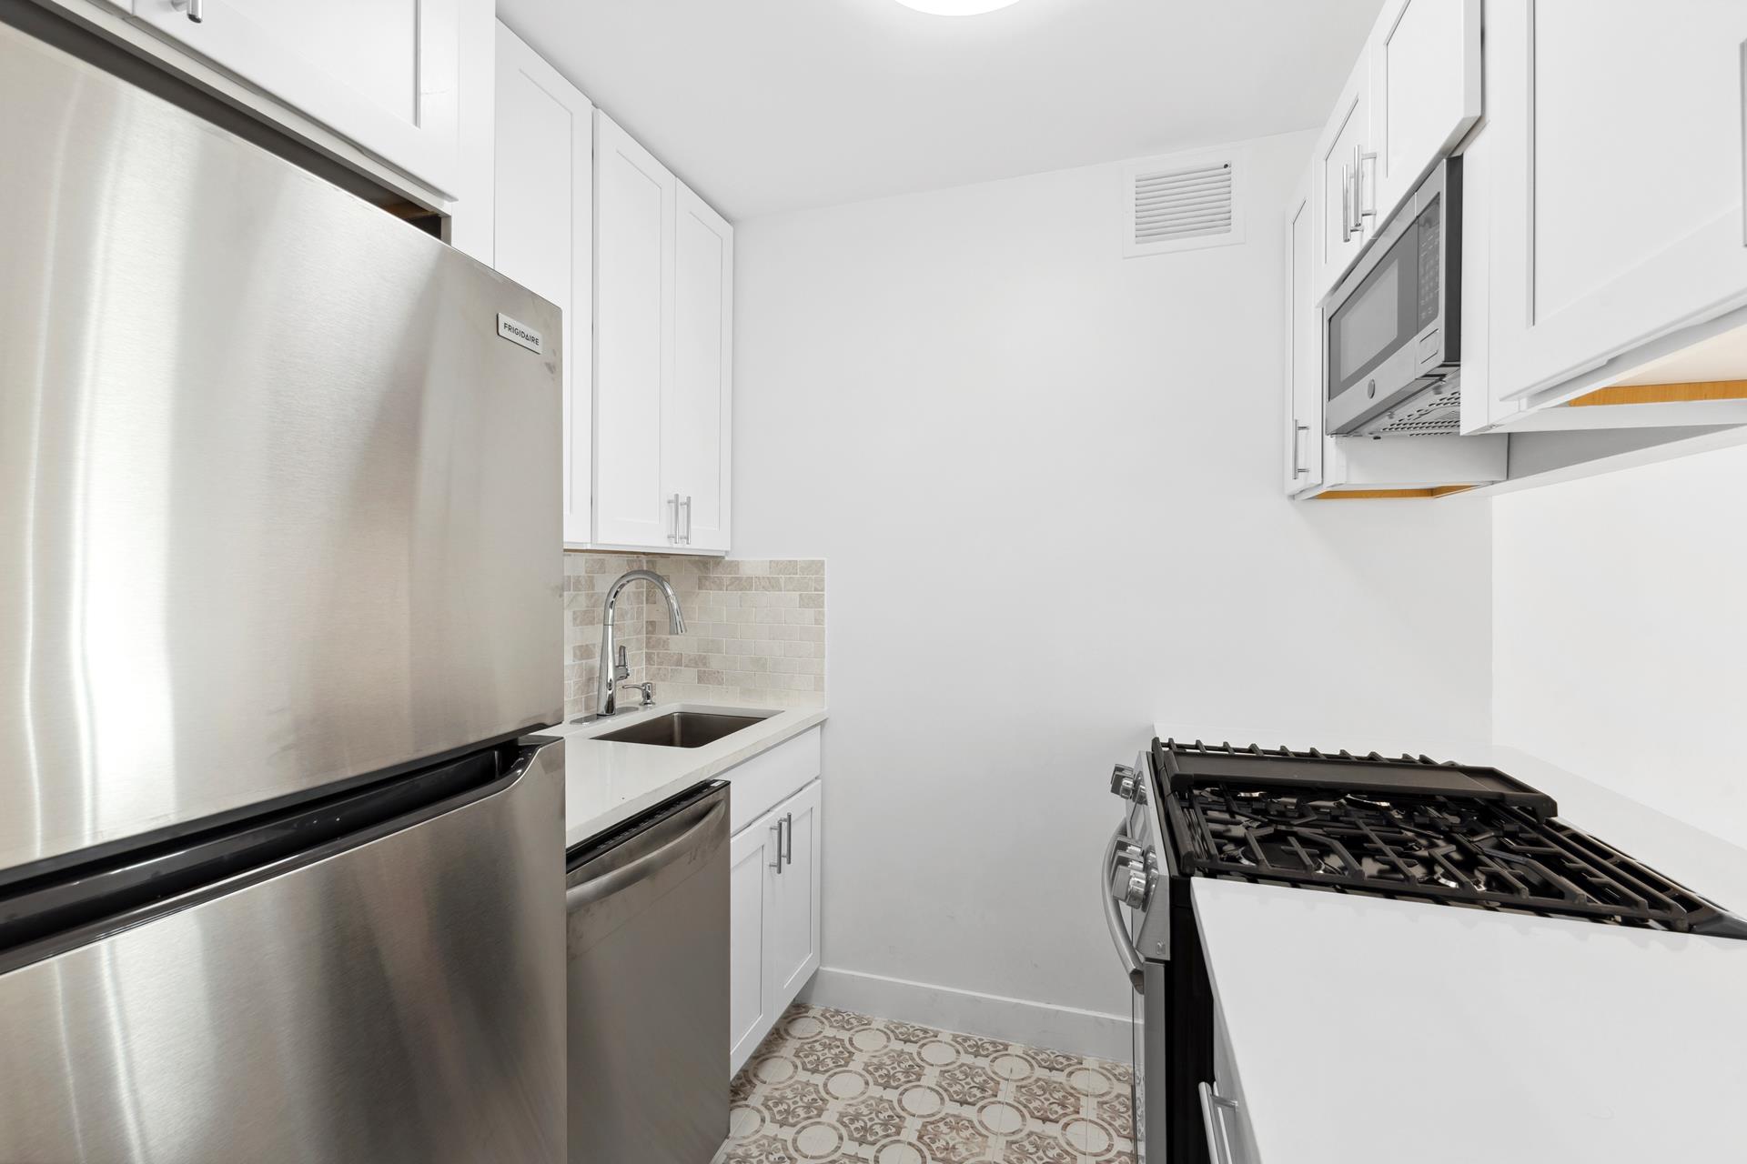
[{"label": "upper stainless steel refrigerator door with the Frigidaire badge", "polygon": [[557,309],[5,24],[0,110],[0,871],[559,722]]}]

